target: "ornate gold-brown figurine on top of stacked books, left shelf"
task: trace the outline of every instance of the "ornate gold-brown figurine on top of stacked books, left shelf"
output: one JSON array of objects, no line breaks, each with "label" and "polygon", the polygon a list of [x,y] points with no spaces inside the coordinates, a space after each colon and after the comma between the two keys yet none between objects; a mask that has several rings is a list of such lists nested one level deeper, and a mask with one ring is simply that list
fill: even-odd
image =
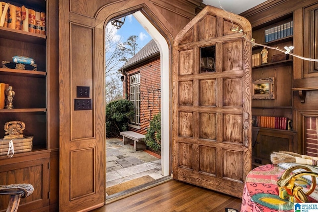
[{"label": "ornate gold-brown figurine on top of stacked books, left shelf", "polygon": [[4,124],[5,136],[3,139],[23,138],[25,123],[23,121],[9,121]]}]

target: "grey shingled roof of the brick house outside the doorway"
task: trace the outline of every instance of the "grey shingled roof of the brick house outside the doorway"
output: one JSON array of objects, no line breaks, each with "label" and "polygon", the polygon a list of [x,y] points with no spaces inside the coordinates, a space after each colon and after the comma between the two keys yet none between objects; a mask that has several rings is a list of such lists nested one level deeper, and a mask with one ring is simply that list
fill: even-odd
[{"label": "grey shingled roof of the brick house outside the doorway", "polygon": [[160,54],[157,43],[152,39],[137,54],[128,60],[118,71],[128,69],[137,64],[150,60]]}]

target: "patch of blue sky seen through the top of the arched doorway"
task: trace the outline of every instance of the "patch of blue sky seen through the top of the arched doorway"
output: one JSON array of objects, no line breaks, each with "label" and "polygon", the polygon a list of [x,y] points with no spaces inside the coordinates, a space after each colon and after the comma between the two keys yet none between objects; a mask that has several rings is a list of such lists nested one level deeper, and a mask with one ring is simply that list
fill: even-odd
[{"label": "patch of blue sky seen through the top of the arched doorway", "polygon": [[143,48],[152,37],[147,33],[142,25],[134,18],[133,15],[126,16],[125,23],[117,31],[117,34],[121,36],[121,40],[125,42],[130,35],[138,36],[138,46]]}]

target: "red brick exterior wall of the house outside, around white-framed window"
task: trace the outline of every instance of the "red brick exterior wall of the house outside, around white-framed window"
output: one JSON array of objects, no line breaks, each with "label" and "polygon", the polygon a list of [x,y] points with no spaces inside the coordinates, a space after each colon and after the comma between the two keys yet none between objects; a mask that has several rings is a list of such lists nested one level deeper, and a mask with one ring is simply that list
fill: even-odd
[{"label": "red brick exterior wall of the house outside, around white-framed window", "polygon": [[[150,120],[154,115],[160,111],[160,58],[155,59],[149,63],[133,70],[127,71],[128,86],[127,94],[130,99],[130,76],[140,73],[140,92],[141,92],[141,106],[140,106],[140,129],[129,127],[128,130],[146,134],[150,124]],[[123,84],[125,98],[125,84]]]}]

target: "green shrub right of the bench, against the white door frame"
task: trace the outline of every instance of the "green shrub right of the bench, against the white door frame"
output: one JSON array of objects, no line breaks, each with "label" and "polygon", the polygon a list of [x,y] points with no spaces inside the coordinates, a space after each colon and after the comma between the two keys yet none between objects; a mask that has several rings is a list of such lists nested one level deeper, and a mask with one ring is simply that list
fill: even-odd
[{"label": "green shrub right of the bench, against the white door frame", "polygon": [[158,151],[161,150],[161,114],[154,115],[145,135],[145,142],[148,147]]}]

